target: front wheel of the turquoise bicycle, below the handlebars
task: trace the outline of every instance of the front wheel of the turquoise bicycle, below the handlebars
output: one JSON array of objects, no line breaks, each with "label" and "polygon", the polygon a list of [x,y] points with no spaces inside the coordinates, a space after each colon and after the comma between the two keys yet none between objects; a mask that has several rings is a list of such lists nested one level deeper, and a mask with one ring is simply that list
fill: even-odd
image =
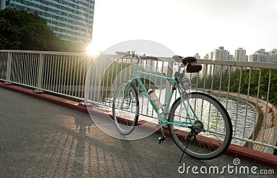
[{"label": "front wheel of the turquoise bicycle, below the handlebars", "polygon": [[128,135],[134,131],[139,119],[139,99],[133,84],[119,84],[114,93],[112,113],[120,134]]}]

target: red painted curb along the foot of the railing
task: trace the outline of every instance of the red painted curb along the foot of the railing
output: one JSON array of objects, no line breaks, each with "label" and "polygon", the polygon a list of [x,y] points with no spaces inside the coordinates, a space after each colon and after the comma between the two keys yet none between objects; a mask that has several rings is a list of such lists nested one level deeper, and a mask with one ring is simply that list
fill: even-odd
[{"label": "red painted curb along the foot of the railing", "polygon": [[[28,96],[33,96],[35,98],[39,98],[41,100],[46,100],[49,101],[51,103],[55,103],[57,105],[62,105],[64,107],[69,107],[71,109],[75,109],[78,110],[80,112],[87,112],[87,107],[84,105],[80,105],[80,103],[72,101],[72,100],[67,100],[64,98],[60,98],[57,96],[51,96],[49,94],[44,94],[44,93],[37,93],[33,90],[30,89],[25,89],[22,87],[17,87],[15,85],[12,84],[4,84],[3,82],[0,82],[0,87],[4,88],[4,89],[10,89],[12,91],[17,91],[21,94],[26,94]],[[99,116],[101,116],[103,113],[99,112],[100,109],[98,109],[98,111],[95,111],[96,114],[98,114]],[[142,122],[138,123],[139,125],[143,124]],[[170,136],[170,132],[168,130],[164,130],[166,136]],[[157,134],[161,134],[161,131],[158,130]],[[225,154],[228,154],[230,156],[233,157],[238,157],[240,159],[244,159],[246,161],[250,161],[253,163],[258,163],[262,166],[267,166],[269,168],[274,168],[277,170],[277,156],[273,155],[273,154],[268,154],[265,152],[259,152],[257,150],[252,150],[249,148],[244,148],[242,146],[239,145],[233,145],[231,144],[228,148],[228,150],[226,150]]]}]

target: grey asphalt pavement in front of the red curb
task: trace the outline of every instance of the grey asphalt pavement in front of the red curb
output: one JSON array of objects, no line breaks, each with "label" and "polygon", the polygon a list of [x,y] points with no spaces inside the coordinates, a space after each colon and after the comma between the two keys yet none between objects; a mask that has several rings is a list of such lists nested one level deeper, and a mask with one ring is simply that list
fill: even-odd
[{"label": "grey asphalt pavement in front of the red curb", "polygon": [[[257,173],[272,169],[243,160],[235,166],[235,157],[226,155],[211,161],[185,155],[179,163],[181,151],[173,141],[168,138],[160,145],[158,137],[152,134],[136,141],[115,139],[99,130],[89,114],[0,88],[0,177],[277,175],[277,170],[273,170],[275,175],[253,174],[251,168]],[[193,173],[193,166],[199,174]],[[183,171],[183,167],[186,171],[181,174],[178,169]],[[219,168],[218,174],[214,174],[215,167]],[[242,167],[249,168],[249,174]],[[203,174],[206,169],[208,173]]]}]

